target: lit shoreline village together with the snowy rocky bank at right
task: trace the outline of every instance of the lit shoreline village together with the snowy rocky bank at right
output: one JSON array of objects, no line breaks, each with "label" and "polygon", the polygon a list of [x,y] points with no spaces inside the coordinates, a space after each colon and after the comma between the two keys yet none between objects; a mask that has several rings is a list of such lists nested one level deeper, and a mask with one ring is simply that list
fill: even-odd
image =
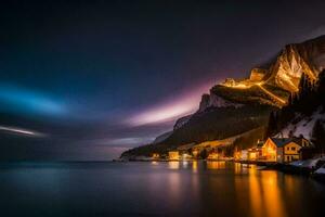
[{"label": "lit shoreline village together with the snowy rocky bank at right", "polygon": [[[250,149],[237,150],[231,141],[214,140],[199,144],[184,144],[168,154],[153,153],[150,161],[229,161],[256,164],[265,168],[310,175],[324,180],[325,157],[315,145],[303,137],[268,138]],[[323,166],[322,166],[323,165]]]}]

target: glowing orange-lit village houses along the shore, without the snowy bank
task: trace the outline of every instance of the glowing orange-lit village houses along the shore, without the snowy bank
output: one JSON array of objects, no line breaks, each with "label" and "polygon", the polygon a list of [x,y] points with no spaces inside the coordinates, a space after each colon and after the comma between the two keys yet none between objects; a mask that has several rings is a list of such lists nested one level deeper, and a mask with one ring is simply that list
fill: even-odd
[{"label": "glowing orange-lit village houses along the shore, without the snowy bank", "polygon": [[185,144],[170,150],[168,155],[153,153],[152,159],[168,161],[236,161],[263,163],[291,163],[314,157],[317,152],[314,145],[303,137],[297,138],[268,138],[258,141],[257,145],[247,150],[234,150],[233,155],[227,154],[230,144],[220,140],[206,141],[199,144]]}]

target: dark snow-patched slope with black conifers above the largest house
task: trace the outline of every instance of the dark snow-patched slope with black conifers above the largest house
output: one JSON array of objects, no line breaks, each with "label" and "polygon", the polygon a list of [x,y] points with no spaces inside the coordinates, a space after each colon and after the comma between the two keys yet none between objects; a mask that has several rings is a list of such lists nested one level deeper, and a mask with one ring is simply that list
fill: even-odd
[{"label": "dark snow-patched slope with black conifers above the largest house", "polygon": [[270,114],[266,136],[304,137],[325,151],[325,71],[317,81],[303,74],[298,89],[286,106]]}]

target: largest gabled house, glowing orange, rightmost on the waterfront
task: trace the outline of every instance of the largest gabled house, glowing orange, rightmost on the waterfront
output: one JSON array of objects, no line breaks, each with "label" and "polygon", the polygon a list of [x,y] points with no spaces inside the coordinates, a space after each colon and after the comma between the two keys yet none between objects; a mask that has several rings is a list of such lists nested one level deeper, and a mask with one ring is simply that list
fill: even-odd
[{"label": "largest gabled house, glowing orange, rightmost on the waterfront", "polygon": [[265,162],[289,163],[300,159],[300,150],[310,146],[304,138],[269,138],[261,146],[259,159]]}]

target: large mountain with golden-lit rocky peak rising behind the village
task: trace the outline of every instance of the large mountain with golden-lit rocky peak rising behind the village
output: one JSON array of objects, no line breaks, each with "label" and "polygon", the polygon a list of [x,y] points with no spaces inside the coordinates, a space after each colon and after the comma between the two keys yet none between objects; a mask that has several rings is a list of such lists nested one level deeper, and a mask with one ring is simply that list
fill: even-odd
[{"label": "large mountain with golden-lit rocky peak rising behind the village", "polygon": [[266,127],[270,113],[286,106],[290,95],[299,91],[302,75],[316,81],[324,68],[325,36],[285,46],[272,62],[253,67],[248,78],[227,78],[213,86],[203,94],[198,111],[177,120],[165,140],[129,150],[122,156],[166,153],[186,143],[221,140]]}]

